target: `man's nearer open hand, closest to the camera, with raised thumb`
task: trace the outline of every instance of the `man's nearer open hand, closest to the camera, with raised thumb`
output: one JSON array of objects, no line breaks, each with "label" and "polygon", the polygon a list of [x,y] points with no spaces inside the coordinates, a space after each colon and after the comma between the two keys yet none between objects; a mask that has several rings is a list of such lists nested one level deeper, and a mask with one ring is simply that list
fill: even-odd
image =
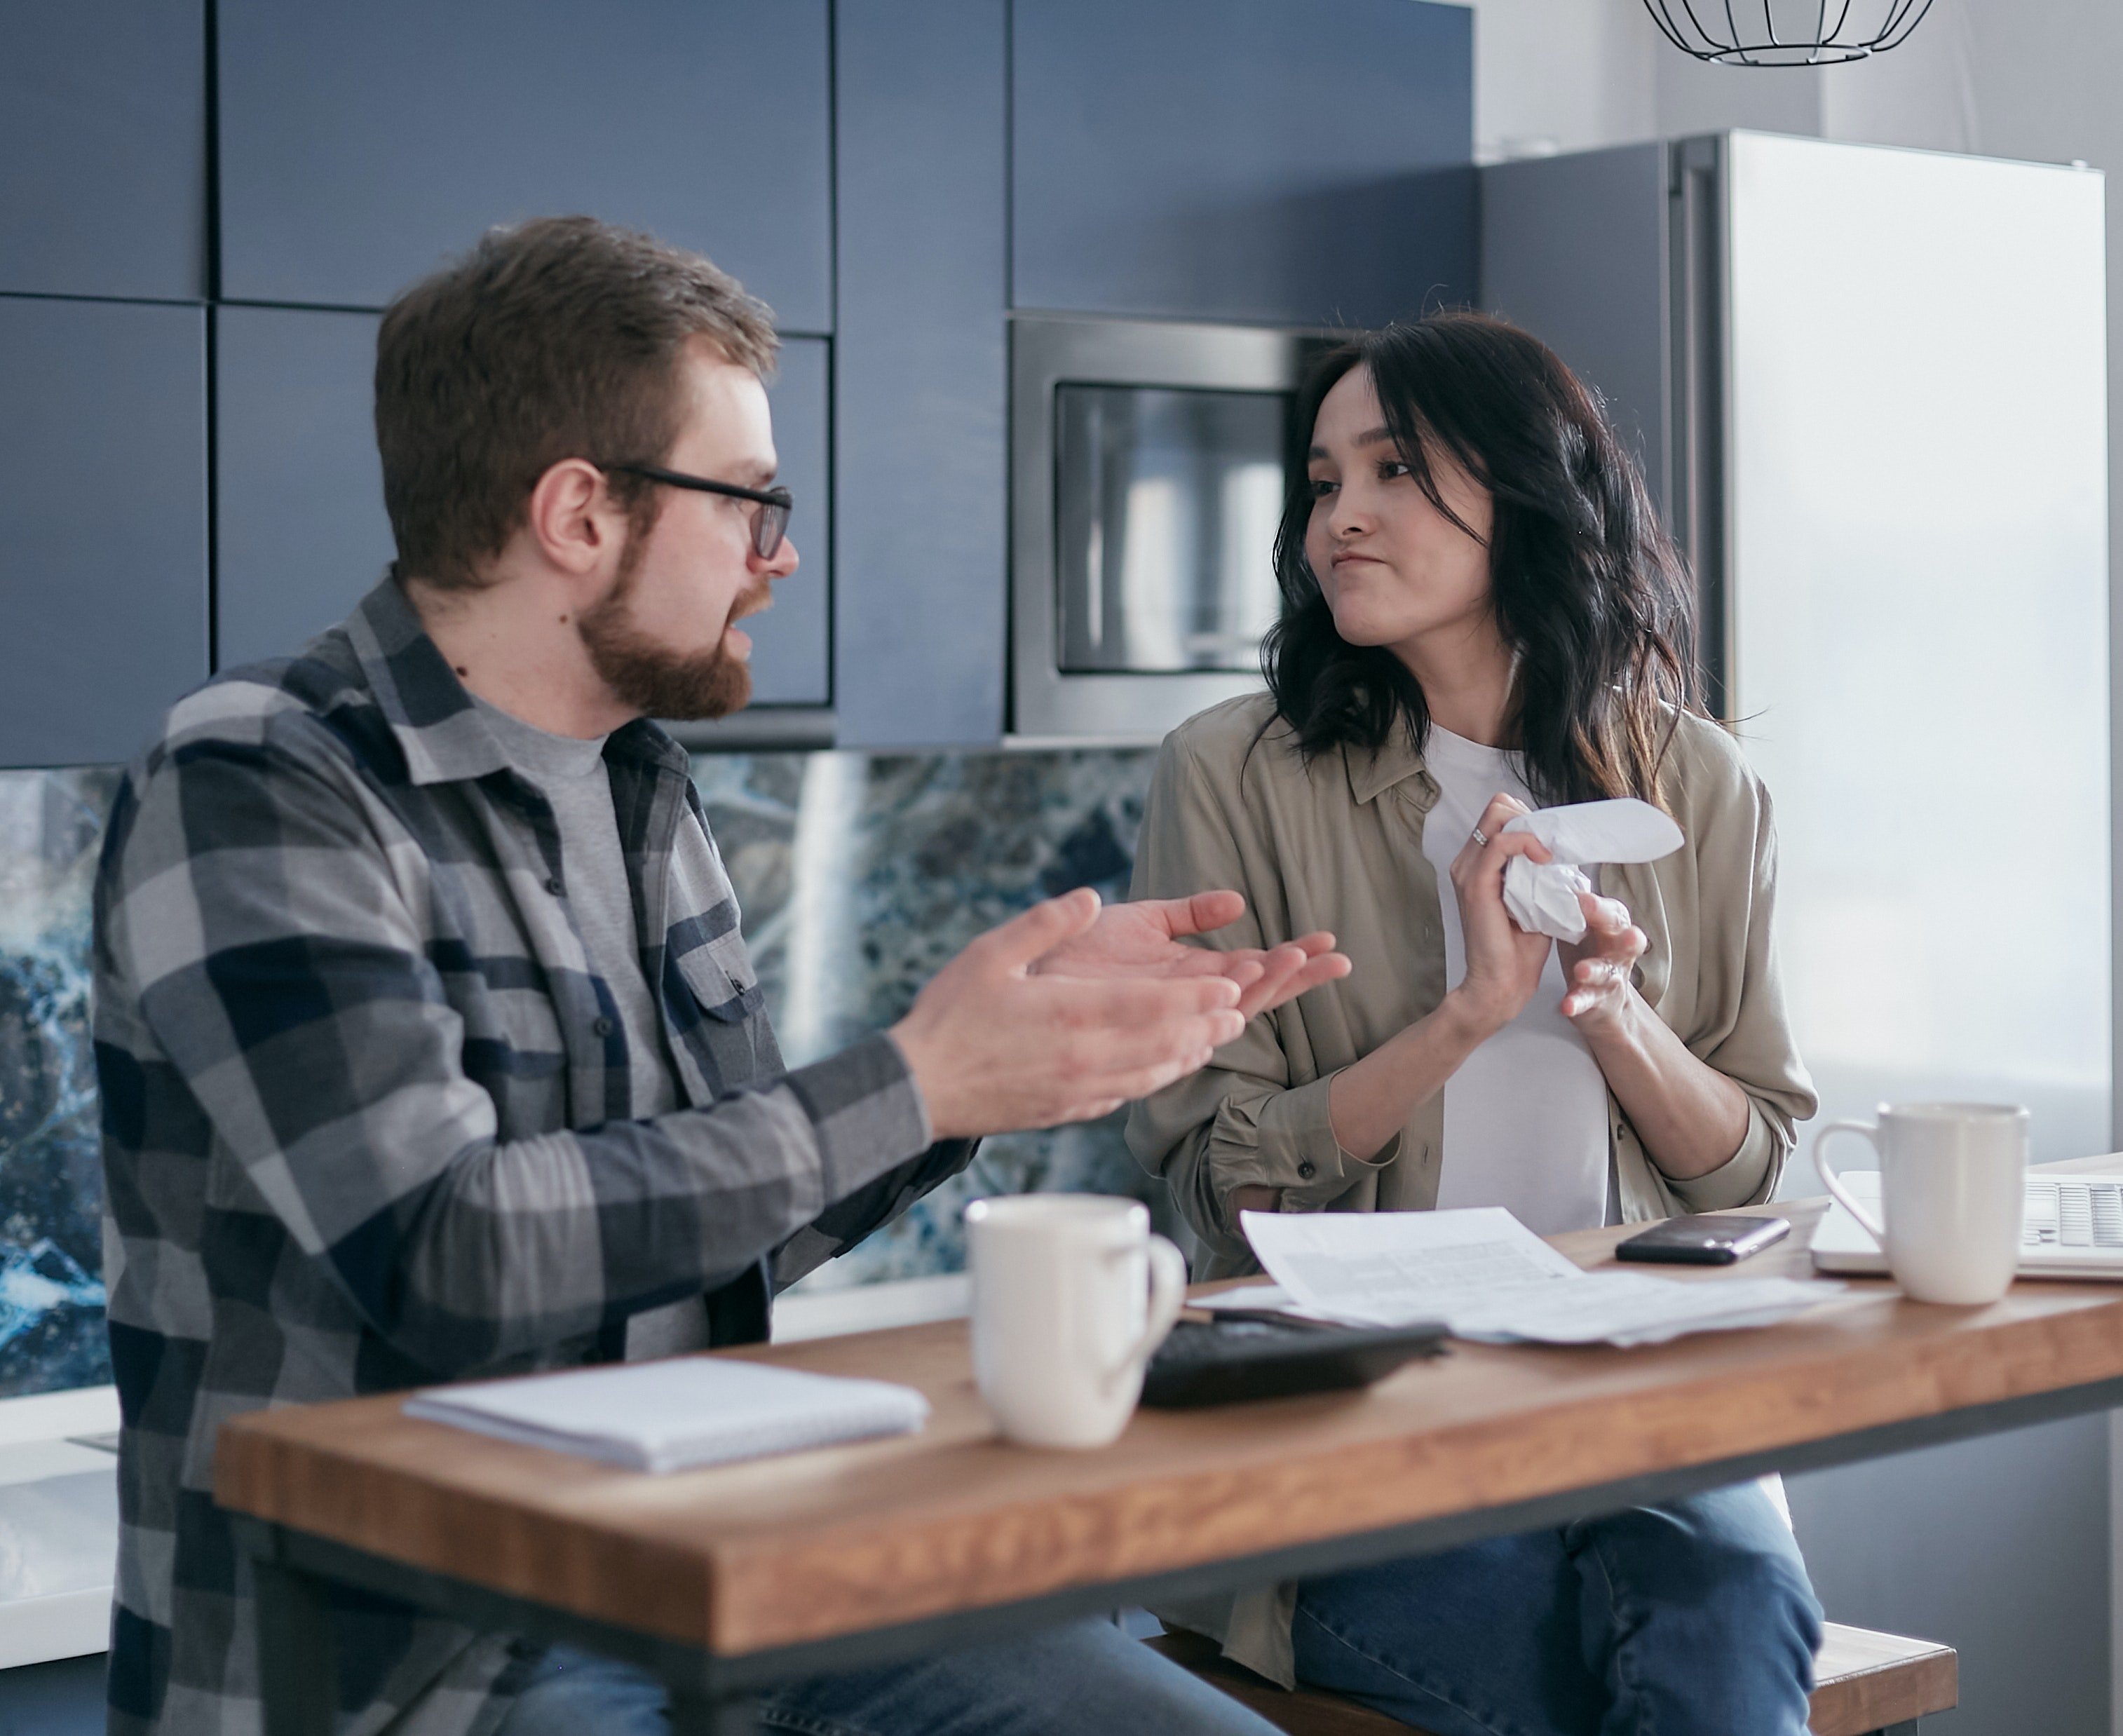
[{"label": "man's nearer open hand, closest to the camera, with raised thumb", "polygon": [[1221,974],[1034,976],[1098,908],[1083,889],[991,927],[892,1027],[938,1140],[1091,1121],[1191,1074],[1246,1029],[1240,987]]}]

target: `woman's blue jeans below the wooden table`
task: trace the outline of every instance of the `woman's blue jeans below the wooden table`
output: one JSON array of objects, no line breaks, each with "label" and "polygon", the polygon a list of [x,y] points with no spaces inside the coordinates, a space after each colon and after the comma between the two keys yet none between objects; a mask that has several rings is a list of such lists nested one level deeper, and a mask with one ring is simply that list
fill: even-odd
[{"label": "woman's blue jeans below the wooden table", "polygon": [[1435,1736],[1805,1736],[1822,1607],[1741,1483],[1306,1581],[1295,1643]]}]

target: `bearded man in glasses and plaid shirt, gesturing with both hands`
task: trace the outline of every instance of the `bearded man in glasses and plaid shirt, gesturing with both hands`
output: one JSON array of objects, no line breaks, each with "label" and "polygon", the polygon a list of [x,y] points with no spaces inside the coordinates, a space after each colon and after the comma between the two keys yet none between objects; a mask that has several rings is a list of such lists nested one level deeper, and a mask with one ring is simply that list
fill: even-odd
[{"label": "bearded man in glasses and plaid shirt, gesturing with both hands", "polygon": [[[1346,970],[1174,936],[1233,893],[1042,904],[883,1036],[786,1074],[686,756],[749,696],[737,620],[796,571],[766,310],[563,219],[384,316],[399,560],[299,656],[170,713],[96,902],[115,1732],[255,1730],[229,1416],[766,1335],[769,1295],[989,1131],[1104,1114]],[[652,1681],[374,1598],[350,1730],[654,1730]],[[771,1725],[1265,1730],[1083,1626],[811,1683]]]}]

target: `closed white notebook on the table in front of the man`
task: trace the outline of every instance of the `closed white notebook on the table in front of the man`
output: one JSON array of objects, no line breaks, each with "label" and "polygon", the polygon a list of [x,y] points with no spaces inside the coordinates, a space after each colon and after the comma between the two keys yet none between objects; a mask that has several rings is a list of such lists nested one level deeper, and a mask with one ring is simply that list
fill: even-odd
[{"label": "closed white notebook on the table in front of the man", "polygon": [[439,1386],[405,1401],[405,1416],[635,1471],[681,1471],[875,1435],[913,1435],[928,1411],[928,1399],[911,1386],[726,1356]]}]

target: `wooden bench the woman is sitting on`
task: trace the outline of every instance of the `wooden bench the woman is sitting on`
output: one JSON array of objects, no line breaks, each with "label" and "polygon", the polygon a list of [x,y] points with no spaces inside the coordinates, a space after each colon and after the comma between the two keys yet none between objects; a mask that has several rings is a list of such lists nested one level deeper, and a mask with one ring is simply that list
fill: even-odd
[{"label": "wooden bench the woman is sitting on", "polygon": [[[1335,1694],[1284,1694],[1219,1655],[1199,1634],[1144,1640],[1265,1717],[1284,1736],[1410,1736],[1410,1725]],[[1826,1624],[1813,1662],[1813,1736],[1906,1736],[1926,1713],[1960,1700],[1960,1657],[1934,1640]]]}]

